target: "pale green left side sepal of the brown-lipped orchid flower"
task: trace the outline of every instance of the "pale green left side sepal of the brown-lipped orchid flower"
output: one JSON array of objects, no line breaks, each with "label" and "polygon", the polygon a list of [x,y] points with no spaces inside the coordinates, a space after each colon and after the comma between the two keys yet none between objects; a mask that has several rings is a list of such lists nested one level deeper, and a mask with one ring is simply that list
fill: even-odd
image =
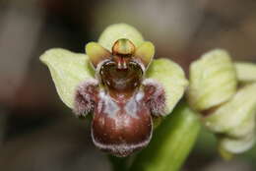
[{"label": "pale green left side sepal of the brown-lipped orchid flower", "polygon": [[40,60],[49,68],[61,100],[68,107],[73,108],[77,85],[94,78],[95,75],[88,56],[54,48],[42,54]]}]

